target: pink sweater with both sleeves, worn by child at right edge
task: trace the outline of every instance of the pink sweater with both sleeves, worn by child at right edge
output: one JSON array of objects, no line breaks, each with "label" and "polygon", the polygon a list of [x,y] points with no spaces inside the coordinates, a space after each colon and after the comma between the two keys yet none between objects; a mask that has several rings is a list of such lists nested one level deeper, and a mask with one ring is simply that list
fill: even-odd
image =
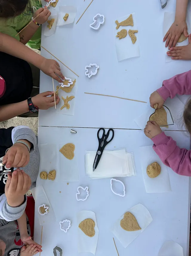
[{"label": "pink sweater with both sleeves, worn by child at right edge", "polygon": [[[191,70],[164,80],[163,86],[157,91],[164,100],[168,97],[173,99],[176,94],[191,94]],[[179,148],[176,141],[164,132],[152,138],[152,141],[153,149],[165,165],[180,175],[191,176],[191,150]]]}]

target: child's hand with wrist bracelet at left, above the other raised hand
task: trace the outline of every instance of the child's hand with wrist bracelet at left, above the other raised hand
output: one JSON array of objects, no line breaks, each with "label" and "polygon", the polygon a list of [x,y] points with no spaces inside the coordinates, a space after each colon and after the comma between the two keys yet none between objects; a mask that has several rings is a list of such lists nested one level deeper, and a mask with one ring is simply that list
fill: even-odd
[{"label": "child's hand with wrist bracelet at left, above the other raised hand", "polygon": [[[22,140],[31,146],[31,143],[27,140]],[[24,167],[29,163],[30,154],[27,146],[21,143],[16,143],[7,151],[3,157],[3,164],[9,169],[11,167]]]}]

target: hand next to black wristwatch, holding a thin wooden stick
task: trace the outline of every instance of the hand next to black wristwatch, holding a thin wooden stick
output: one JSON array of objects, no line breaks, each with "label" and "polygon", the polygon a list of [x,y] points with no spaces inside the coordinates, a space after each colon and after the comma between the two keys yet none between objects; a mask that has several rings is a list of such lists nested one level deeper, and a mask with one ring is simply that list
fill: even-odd
[{"label": "hand next to black wristwatch, holding a thin wooden stick", "polygon": [[[35,106],[37,106],[39,109],[49,109],[50,107],[53,107],[54,104],[54,96],[47,97],[52,95],[53,91],[46,91],[43,93],[40,93],[34,97],[32,97],[32,102]],[[60,98],[58,95],[55,95],[56,105],[58,105]]]}]

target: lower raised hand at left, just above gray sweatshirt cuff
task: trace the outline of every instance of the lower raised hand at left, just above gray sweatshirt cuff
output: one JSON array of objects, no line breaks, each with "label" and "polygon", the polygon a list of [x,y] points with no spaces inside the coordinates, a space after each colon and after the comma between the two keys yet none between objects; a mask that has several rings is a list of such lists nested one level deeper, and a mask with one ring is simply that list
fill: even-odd
[{"label": "lower raised hand at left, just above gray sweatshirt cuff", "polygon": [[5,195],[7,203],[11,207],[18,207],[23,204],[24,195],[30,189],[31,179],[23,170],[13,171],[12,176],[8,174],[5,184]]}]

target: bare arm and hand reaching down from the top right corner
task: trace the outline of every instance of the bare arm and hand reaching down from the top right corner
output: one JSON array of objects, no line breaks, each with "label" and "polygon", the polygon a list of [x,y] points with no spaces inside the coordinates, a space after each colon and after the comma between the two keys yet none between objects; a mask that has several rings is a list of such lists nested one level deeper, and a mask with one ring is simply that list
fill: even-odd
[{"label": "bare arm and hand reaching down from the top right corner", "polygon": [[163,41],[167,40],[165,46],[169,46],[169,49],[176,45],[182,33],[184,33],[185,37],[188,37],[186,24],[187,5],[188,0],[176,0],[175,20],[163,39]]}]

